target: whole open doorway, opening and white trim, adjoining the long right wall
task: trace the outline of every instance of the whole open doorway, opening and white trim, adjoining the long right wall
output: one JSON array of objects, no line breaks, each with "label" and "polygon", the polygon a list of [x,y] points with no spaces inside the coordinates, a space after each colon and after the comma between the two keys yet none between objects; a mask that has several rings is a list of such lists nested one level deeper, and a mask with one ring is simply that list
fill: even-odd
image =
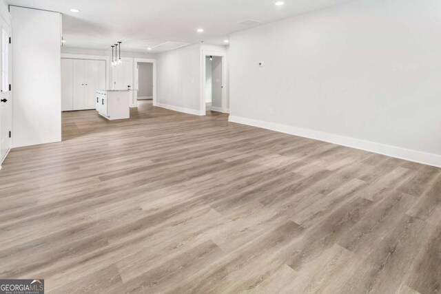
[{"label": "whole open doorway, opening and white trim, adjoining the long right wall", "polygon": [[225,55],[203,52],[203,57],[202,109],[205,114],[225,112]]}]

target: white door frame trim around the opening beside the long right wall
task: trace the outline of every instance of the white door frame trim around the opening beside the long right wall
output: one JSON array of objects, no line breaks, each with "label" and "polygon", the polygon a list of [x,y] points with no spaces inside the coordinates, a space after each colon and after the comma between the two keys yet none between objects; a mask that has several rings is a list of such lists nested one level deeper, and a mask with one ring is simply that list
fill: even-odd
[{"label": "white door frame trim around the opening beside the long right wall", "polygon": [[207,76],[207,58],[206,56],[216,56],[222,58],[222,113],[227,113],[227,53],[225,52],[216,52],[210,50],[202,50],[201,54],[201,65],[202,65],[202,76],[201,76],[201,97],[200,97],[200,109],[201,115],[207,115],[207,105],[205,103],[205,78]]}]

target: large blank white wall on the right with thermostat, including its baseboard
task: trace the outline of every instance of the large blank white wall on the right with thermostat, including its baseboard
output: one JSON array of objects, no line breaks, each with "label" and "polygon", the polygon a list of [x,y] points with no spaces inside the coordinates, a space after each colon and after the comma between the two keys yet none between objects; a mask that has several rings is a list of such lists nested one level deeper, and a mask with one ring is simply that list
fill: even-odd
[{"label": "large blank white wall on the right with thermostat, including its baseboard", "polygon": [[441,166],[440,11],[360,0],[232,34],[230,120]]}]

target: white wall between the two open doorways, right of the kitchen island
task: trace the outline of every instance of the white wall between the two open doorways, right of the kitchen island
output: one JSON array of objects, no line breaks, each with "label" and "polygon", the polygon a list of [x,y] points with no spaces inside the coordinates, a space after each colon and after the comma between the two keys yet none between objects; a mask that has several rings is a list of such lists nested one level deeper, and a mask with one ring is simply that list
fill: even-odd
[{"label": "white wall between the two open doorways, right of the kitchen island", "polygon": [[189,114],[205,115],[201,107],[201,45],[157,54],[156,105]]}]

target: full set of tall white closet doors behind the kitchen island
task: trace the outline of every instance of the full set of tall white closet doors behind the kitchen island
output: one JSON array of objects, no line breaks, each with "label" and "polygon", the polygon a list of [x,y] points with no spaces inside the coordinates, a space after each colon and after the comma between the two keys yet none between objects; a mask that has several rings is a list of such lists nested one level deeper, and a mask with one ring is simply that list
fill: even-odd
[{"label": "full set of tall white closet doors behind the kitchen island", "polygon": [[94,109],[96,90],[105,89],[105,61],[61,59],[61,109]]}]

